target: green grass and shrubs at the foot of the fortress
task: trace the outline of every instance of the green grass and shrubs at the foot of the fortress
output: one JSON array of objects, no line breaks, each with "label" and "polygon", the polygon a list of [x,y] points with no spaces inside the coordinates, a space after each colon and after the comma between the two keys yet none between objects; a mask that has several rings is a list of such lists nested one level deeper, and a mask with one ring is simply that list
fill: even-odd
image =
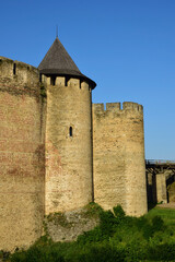
[{"label": "green grass and shrubs at the foot of the fortress", "polygon": [[93,204],[86,215],[100,216],[100,225],[73,242],[52,242],[42,237],[11,262],[137,262],[175,261],[175,210],[155,207],[136,218],[120,206],[114,213]]}]

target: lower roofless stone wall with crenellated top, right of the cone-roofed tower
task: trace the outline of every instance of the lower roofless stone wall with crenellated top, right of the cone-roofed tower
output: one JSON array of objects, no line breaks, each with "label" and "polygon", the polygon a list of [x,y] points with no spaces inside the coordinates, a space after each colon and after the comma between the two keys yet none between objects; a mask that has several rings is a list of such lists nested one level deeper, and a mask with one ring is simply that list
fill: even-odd
[{"label": "lower roofless stone wall with crenellated top, right of the cone-roofed tower", "polygon": [[121,204],[128,215],[147,212],[142,106],[93,105],[94,201],[104,209]]}]

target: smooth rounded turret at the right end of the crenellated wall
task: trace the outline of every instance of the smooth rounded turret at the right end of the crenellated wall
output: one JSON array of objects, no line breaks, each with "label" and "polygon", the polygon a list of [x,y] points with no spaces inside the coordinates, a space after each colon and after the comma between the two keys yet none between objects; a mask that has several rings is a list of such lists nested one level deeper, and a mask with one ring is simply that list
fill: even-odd
[{"label": "smooth rounded turret at the right end of the crenellated wall", "polygon": [[126,209],[129,215],[140,216],[148,211],[144,162],[143,107],[126,102]]}]

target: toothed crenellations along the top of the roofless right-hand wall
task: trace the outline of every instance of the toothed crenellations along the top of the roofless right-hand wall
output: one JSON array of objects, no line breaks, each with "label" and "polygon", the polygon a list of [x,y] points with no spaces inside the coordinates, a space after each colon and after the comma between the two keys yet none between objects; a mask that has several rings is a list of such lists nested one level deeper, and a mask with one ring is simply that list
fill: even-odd
[{"label": "toothed crenellations along the top of the roofless right-hand wall", "polygon": [[105,114],[105,112],[124,112],[124,111],[138,111],[142,112],[143,107],[142,105],[139,105],[138,103],[133,102],[124,102],[121,103],[106,103],[106,109],[105,104],[93,104],[93,110],[94,114]]}]

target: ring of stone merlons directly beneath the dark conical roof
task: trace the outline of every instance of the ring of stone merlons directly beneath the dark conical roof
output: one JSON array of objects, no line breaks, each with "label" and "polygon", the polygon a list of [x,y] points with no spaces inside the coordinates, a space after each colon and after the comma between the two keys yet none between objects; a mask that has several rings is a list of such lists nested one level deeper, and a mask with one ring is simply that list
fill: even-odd
[{"label": "ring of stone merlons directly beneath the dark conical roof", "polygon": [[42,74],[42,83],[46,85],[54,85],[54,86],[69,86],[73,87],[77,86],[80,90],[92,88],[88,82],[81,81],[77,78],[68,78],[68,76],[46,76]]}]

